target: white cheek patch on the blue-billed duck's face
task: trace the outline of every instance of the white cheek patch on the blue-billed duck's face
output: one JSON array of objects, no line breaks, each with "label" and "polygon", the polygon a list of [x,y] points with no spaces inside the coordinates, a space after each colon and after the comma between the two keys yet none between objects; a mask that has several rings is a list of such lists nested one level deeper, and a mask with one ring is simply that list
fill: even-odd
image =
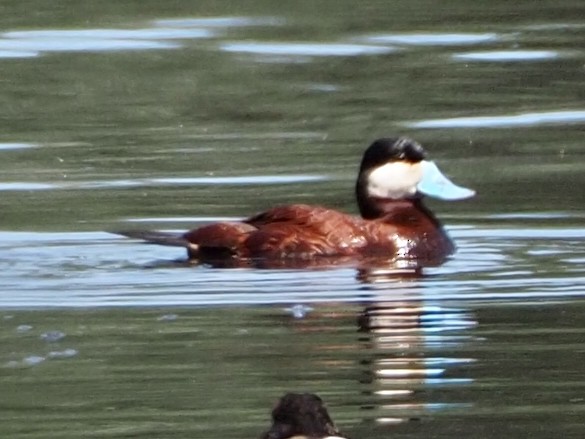
[{"label": "white cheek patch on the blue-billed duck's face", "polygon": [[420,163],[387,163],[368,175],[368,195],[395,200],[411,197],[416,194],[416,186],[421,179]]}]

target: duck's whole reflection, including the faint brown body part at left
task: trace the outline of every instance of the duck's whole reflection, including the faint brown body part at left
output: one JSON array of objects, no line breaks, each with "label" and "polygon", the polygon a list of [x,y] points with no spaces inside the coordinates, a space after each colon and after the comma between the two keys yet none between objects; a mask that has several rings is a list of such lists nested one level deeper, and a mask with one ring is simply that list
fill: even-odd
[{"label": "duck's whole reflection, including the faint brown body part at left", "polygon": [[476,316],[447,306],[424,279],[394,276],[365,286],[357,337],[346,337],[356,322],[353,304],[313,306],[302,317],[286,317],[303,335],[302,343],[287,343],[287,367],[332,377],[354,371],[362,423],[385,428],[473,406],[467,398],[476,362],[469,353],[481,342],[473,333]]}]

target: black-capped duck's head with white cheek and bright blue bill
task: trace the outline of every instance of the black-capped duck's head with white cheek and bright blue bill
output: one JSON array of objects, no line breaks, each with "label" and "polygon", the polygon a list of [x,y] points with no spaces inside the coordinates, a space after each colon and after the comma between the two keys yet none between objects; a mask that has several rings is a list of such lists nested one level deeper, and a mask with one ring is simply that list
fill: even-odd
[{"label": "black-capped duck's head with white cheek and bright blue bill", "polygon": [[356,196],[363,218],[383,212],[380,201],[420,199],[423,195],[461,200],[474,191],[452,183],[437,165],[426,160],[423,147],[407,137],[382,138],[364,152],[356,183]]}]

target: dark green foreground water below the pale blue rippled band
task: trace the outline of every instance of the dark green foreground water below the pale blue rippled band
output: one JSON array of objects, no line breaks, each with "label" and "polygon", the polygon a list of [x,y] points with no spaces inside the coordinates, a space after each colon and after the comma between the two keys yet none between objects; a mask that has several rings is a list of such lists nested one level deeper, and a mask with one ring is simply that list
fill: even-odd
[{"label": "dark green foreground water below the pale blue rippled band", "polygon": [[[409,347],[399,334],[358,333],[357,307],[324,308],[304,321],[233,308],[3,313],[9,357],[77,355],[3,368],[2,431],[26,438],[257,437],[282,393],[309,390],[329,401],[352,437],[579,437],[583,329],[574,325],[583,306],[530,307],[521,320],[519,309],[480,308],[476,329],[441,345],[411,336]],[[33,328],[15,335],[15,326],[28,323]],[[41,340],[56,327],[64,338]],[[473,361],[448,366],[438,384],[372,379],[372,361],[402,358],[416,370],[425,357],[444,356]],[[380,405],[384,398],[373,393],[380,389],[414,393]],[[394,421],[380,423],[388,417]]]}]

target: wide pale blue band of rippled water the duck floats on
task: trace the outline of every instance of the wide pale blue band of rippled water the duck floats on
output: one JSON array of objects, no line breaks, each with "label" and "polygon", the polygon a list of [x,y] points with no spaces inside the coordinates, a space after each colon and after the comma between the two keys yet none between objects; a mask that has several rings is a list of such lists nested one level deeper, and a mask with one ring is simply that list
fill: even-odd
[{"label": "wide pale blue band of rippled water the duck floats on", "polygon": [[[185,257],[182,249],[107,233],[2,232],[0,308],[281,304],[293,309],[331,301],[417,301],[428,314],[424,326],[450,331],[467,327],[469,319],[443,308],[437,320],[432,314],[437,304],[585,296],[580,262],[585,251],[575,245],[585,239],[585,229],[463,227],[450,232],[460,250],[447,264],[420,279],[400,282],[394,276],[375,283],[352,266],[222,270],[177,261]],[[562,260],[549,254],[551,249],[561,251]]]}]

